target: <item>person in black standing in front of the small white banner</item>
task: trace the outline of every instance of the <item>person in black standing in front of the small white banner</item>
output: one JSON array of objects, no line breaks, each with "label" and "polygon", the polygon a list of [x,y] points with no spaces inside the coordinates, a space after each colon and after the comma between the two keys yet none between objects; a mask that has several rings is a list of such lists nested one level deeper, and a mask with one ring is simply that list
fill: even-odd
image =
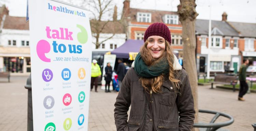
[{"label": "person in black standing in front of the small white banner", "polygon": [[106,81],[106,84],[105,84],[105,92],[111,92],[108,88],[108,91],[106,90],[106,87],[110,87],[110,82],[112,80],[112,67],[110,65],[110,62],[107,63],[107,66],[105,67],[105,75],[104,75],[104,79]]}]

